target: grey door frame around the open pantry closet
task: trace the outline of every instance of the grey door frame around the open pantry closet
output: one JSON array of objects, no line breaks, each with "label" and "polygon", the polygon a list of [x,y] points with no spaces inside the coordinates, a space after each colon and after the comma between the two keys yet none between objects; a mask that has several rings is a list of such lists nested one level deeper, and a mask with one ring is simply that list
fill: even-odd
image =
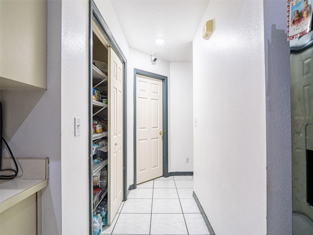
[{"label": "grey door frame around the open pantry closet", "polygon": [[[92,55],[92,20],[94,20],[97,25],[99,26],[102,34],[106,38],[106,41],[108,42],[108,46],[112,47],[114,52],[117,54],[119,59],[121,60],[123,64],[123,201],[127,200],[127,59],[123,54],[123,51],[118,46],[115,38],[113,37],[113,34],[108,26],[108,24],[103,19],[98,7],[96,6],[95,2],[93,0],[89,0],[89,100],[91,100],[91,88],[92,88],[92,62],[91,62],[91,55]],[[91,101],[89,104],[89,118],[90,123],[89,126],[91,126],[91,120],[92,120],[92,113],[90,109]],[[89,131],[89,140],[91,139],[91,132]],[[89,158],[91,155],[91,143],[89,142]],[[92,157],[91,157],[92,158]],[[92,159],[89,159],[89,188],[92,187],[92,165],[91,165]],[[92,234],[92,190],[90,190],[89,193],[89,233]]]}]

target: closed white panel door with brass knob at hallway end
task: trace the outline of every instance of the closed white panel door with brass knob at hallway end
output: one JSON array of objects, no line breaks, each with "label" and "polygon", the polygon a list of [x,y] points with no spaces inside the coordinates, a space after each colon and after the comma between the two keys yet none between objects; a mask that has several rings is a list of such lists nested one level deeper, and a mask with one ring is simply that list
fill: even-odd
[{"label": "closed white panel door with brass knob at hallway end", "polygon": [[163,175],[162,149],[162,81],[137,75],[137,184]]}]

